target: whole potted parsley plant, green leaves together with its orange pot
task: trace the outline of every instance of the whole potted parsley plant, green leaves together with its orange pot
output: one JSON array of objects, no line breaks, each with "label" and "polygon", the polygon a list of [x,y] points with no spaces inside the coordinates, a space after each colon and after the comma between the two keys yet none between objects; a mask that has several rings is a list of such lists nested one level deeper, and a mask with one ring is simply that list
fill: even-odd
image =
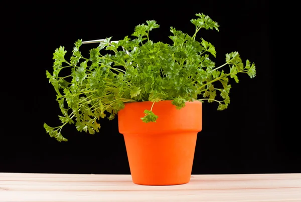
[{"label": "whole potted parsley plant, green leaves together with its orange pot", "polygon": [[[99,132],[99,119],[118,115],[132,180],[136,184],[171,185],[190,180],[197,133],[202,129],[202,102],[230,103],[229,79],[238,73],[255,76],[254,63],[242,62],[238,52],[226,54],[216,66],[214,46],[198,31],[218,30],[218,23],[197,13],[191,36],[171,27],[171,44],[153,41],[155,20],[135,27],[132,38],[111,37],[82,53],[77,40],[70,59],[63,46],[54,52],[53,72],[46,72],[62,111],[62,125],[44,124],[47,133],[67,141],[61,130],[75,124],[78,131]],[[86,56],[88,55],[88,56]],[[227,67],[224,71],[222,67]],[[61,70],[69,74],[61,75]]]}]

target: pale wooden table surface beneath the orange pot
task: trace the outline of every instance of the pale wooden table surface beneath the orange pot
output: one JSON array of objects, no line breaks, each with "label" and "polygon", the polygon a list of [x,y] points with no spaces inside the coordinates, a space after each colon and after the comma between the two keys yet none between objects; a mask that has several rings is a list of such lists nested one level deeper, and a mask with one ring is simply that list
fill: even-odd
[{"label": "pale wooden table surface beneath the orange pot", "polygon": [[137,185],[130,175],[0,173],[0,201],[301,202],[301,173],[192,175],[171,186]]}]

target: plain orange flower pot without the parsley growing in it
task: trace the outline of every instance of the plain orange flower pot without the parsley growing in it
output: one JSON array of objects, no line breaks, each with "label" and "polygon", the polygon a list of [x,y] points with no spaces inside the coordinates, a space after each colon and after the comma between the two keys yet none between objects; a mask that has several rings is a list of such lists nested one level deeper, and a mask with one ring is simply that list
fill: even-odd
[{"label": "plain orange flower pot without the parsley growing in it", "polygon": [[176,109],[171,100],[155,102],[157,122],[142,122],[153,102],[126,103],[118,112],[132,181],[143,185],[175,185],[190,181],[197,133],[202,130],[202,102]]}]

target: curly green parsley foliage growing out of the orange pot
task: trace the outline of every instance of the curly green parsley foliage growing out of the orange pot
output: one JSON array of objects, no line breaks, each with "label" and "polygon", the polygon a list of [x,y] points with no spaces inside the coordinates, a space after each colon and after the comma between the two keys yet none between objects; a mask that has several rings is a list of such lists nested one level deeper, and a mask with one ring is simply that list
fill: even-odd
[{"label": "curly green parsley foliage growing out of the orange pot", "polygon": [[[229,79],[238,82],[238,73],[253,78],[255,65],[249,60],[244,64],[238,52],[231,52],[226,54],[226,62],[216,67],[209,57],[216,56],[213,44],[196,37],[201,28],[218,30],[219,25],[203,13],[196,16],[191,20],[196,27],[192,36],[171,27],[171,44],[150,39],[149,32],[159,24],[148,20],[135,27],[133,39],[125,36],[113,42],[108,37],[89,50],[89,57],[79,50],[82,40],[75,42],[68,60],[64,47],[57,48],[53,73],[46,74],[57,93],[62,125],[44,123],[46,131],[58,141],[67,141],[61,134],[67,123],[75,123],[78,131],[99,132],[99,119],[113,119],[126,102],[152,101],[154,106],[160,100],[173,100],[180,109],[187,101],[206,100],[218,102],[218,110],[227,108]],[[224,66],[227,71],[221,70]],[[67,76],[60,75],[64,68],[70,72]],[[156,121],[152,108],[145,109],[141,121]]]}]

